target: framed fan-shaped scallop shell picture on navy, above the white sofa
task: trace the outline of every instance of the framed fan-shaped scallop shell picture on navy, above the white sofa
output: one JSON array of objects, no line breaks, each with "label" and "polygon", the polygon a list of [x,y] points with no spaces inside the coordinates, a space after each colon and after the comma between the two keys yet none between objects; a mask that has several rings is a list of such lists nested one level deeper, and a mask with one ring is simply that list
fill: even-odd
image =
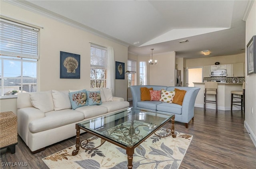
[{"label": "framed fan-shaped scallop shell picture on navy, above the white sofa", "polygon": [[80,55],[60,51],[60,78],[80,79]]}]

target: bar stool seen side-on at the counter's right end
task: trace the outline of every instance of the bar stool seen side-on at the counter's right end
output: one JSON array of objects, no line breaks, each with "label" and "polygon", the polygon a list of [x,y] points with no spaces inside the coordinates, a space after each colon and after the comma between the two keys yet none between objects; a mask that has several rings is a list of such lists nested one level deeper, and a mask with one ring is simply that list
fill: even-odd
[{"label": "bar stool seen side-on at the counter's right end", "polygon": [[[243,90],[233,90],[231,91],[231,110],[233,108],[233,105],[241,106],[241,110],[243,110],[243,107],[245,106],[245,82],[243,83]],[[238,95],[237,97],[234,96],[234,94]],[[239,97],[240,95],[240,97]],[[233,98],[238,98],[240,101],[233,101]],[[236,104],[240,103],[240,104]]]}]

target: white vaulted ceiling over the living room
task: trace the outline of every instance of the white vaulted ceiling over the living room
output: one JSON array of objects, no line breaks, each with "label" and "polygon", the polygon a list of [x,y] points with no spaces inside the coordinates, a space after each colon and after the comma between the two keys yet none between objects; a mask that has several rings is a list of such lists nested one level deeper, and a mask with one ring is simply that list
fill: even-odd
[{"label": "white vaulted ceiling over the living room", "polygon": [[[129,45],[139,55],[176,51],[176,57],[244,53],[247,0],[28,0],[30,8]],[[248,8],[248,7],[247,7]],[[188,39],[186,43],[179,43]],[[207,56],[207,57],[209,57]]]}]

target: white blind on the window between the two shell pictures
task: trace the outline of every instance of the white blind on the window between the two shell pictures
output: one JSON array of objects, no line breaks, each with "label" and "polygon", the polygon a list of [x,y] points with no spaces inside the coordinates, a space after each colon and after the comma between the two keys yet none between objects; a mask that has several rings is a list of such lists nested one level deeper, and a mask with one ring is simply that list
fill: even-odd
[{"label": "white blind on the window between the two shell pictures", "polygon": [[91,68],[107,69],[107,48],[91,44]]}]

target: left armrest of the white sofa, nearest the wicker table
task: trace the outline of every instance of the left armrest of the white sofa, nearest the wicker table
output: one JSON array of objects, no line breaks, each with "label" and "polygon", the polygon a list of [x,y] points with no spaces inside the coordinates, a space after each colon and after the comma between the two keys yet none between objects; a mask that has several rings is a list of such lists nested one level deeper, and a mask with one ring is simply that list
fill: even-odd
[{"label": "left armrest of the white sofa, nearest the wicker table", "polygon": [[18,134],[28,145],[28,124],[33,120],[44,118],[45,114],[41,110],[34,107],[26,107],[18,109]]}]

